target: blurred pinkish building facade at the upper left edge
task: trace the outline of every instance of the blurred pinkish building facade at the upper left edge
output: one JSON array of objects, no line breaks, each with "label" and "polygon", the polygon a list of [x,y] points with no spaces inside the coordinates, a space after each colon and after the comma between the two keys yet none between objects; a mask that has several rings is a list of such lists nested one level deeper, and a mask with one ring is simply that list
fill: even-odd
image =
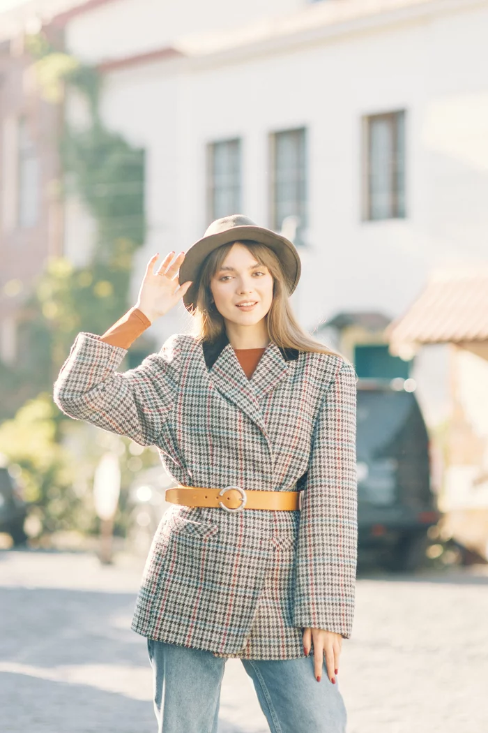
[{"label": "blurred pinkish building facade at the upper left edge", "polygon": [[63,250],[59,107],[43,100],[23,34],[0,45],[0,361],[22,358],[34,281]]}]

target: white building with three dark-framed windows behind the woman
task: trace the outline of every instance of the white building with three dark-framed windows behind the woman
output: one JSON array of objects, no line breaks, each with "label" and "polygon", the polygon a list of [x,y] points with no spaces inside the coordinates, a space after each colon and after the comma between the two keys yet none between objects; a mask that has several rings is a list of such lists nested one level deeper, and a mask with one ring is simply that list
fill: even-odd
[{"label": "white building with three dark-framed windows behind the woman", "polygon": [[487,257],[487,1],[221,6],[202,19],[197,3],[193,17],[112,0],[61,18],[104,75],[105,122],[146,149],[135,288],[150,254],[236,210],[295,237],[309,329],[342,310],[394,317],[435,266]]}]

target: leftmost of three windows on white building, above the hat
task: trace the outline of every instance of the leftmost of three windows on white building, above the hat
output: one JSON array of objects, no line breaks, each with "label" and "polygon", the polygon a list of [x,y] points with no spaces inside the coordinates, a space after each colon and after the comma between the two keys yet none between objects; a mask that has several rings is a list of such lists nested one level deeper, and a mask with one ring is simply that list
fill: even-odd
[{"label": "leftmost of three windows on white building, above the hat", "polygon": [[207,210],[210,221],[241,213],[241,141],[222,140],[208,147]]}]

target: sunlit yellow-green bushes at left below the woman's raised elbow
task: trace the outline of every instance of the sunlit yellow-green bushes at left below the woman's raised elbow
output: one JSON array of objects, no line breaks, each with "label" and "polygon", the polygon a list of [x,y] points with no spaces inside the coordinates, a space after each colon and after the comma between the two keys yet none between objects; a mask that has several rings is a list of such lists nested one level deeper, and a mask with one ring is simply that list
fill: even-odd
[{"label": "sunlit yellow-green bushes at left below the woman's raised elbow", "polygon": [[64,419],[48,393],[29,400],[14,419],[0,425],[0,454],[15,470],[26,501],[37,507],[42,533],[97,531],[91,486],[97,464],[107,451],[118,455],[121,466],[116,531],[125,534],[129,485],[136,472],[157,463],[153,450]]}]

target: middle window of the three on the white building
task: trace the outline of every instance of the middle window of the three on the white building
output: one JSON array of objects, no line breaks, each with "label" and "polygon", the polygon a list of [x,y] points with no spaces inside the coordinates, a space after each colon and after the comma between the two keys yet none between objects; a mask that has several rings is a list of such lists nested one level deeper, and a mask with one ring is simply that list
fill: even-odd
[{"label": "middle window of the three on the white building", "polygon": [[296,221],[296,244],[307,226],[306,130],[271,135],[271,227],[279,232],[288,217]]}]

